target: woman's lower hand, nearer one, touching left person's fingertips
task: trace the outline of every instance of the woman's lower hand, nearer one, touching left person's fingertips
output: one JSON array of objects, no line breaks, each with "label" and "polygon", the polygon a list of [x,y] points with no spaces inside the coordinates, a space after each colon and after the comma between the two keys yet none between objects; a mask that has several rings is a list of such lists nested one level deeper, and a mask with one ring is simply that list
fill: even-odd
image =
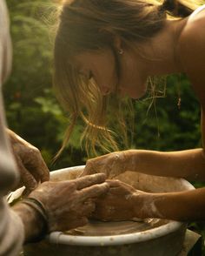
[{"label": "woman's lower hand, nearer one, touching left person's fingertips", "polygon": [[142,216],[143,196],[147,193],[136,191],[131,185],[119,180],[107,180],[109,192],[96,201],[92,217],[102,220],[129,220]]}]

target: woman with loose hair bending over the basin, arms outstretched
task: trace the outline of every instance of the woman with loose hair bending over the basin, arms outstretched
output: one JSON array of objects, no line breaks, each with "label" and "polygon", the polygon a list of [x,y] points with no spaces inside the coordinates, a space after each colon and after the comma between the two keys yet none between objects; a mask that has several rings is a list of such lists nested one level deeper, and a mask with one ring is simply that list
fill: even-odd
[{"label": "woman with loose hair bending over the basin, arms outstretched", "polygon": [[[107,98],[112,94],[141,98],[149,76],[178,72],[187,74],[201,103],[205,145],[204,5],[197,8],[188,1],[166,0],[64,1],[54,54],[57,96],[71,120],[64,145],[78,117],[87,124],[83,136],[91,145],[102,141],[115,145],[104,118]],[[115,177],[128,170],[204,181],[204,148],[112,152],[89,159],[83,175],[104,172]],[[110,186],[97,207],[98,218],[205,219],[205,188],[152,194],[117,181]]]}]

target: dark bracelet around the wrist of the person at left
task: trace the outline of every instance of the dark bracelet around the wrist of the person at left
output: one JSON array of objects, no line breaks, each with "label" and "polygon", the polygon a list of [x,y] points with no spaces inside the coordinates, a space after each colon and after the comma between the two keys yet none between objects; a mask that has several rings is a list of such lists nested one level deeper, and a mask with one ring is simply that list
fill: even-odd
[{"label": "dark bracelet around the wrist of the person at left", "polygon": [[37,237],[35,241],[39,241],[43,239],[46,233],[49,232],[49,226],[48,226],[48,215],[46,213],[46,210],[42,204],[41,201],[38,201],[37,199],[34,198],[25,198],[21,201],[22,204],[25,205],[30,205],[31,208],[35,209],[36,212],[40,214],[40,216],[43,219],[43,231],[40,234],[40,236]]}]

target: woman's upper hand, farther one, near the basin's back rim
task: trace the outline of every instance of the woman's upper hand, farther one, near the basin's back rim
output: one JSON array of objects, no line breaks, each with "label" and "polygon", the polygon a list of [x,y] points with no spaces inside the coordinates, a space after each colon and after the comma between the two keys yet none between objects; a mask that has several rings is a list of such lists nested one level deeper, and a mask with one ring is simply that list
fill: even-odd
[{"label": "woman's upper hand, farther one, near the basin's back rim", "polygon": [[108,179],[113,179],[122,172],[126,172],[127,158],[125,152],[112,152],[87,161],[81,177],[93,173],[105,173]]}]

